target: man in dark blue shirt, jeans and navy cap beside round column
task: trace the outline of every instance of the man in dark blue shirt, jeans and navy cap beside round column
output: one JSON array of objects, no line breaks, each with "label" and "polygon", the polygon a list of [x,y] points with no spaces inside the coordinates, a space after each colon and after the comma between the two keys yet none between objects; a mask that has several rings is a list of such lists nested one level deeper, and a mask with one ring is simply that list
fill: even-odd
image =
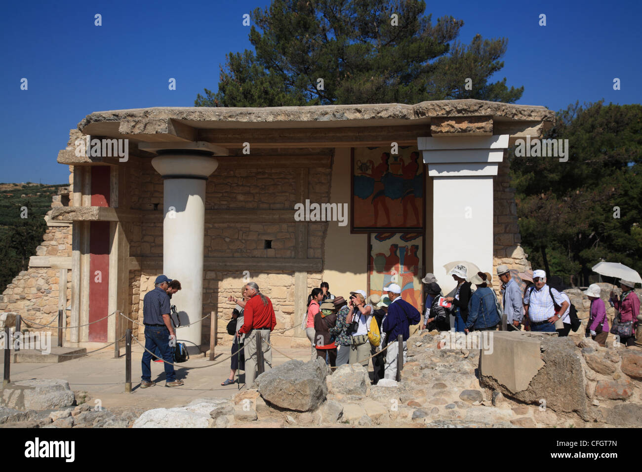
[{"label": "man in dark blue shirt, jeans and navy cap beside round column", "polygon": [[[143,298],[143,324],[145,325],[145,352],[141,366],[143,375],[141,376],[141,389],[152,387],[152,353],[158,347],[162,359],[165,361],[165,386],[178,387],[183,385],[182,380],[176,379],[174,372],[174,349],[169,345],[171,339],[176,342],[174,328],[169,320],[169,297],[167,292],[171,279],[166,275],[159,275],[154,282],[155,288],[147,292]],[[151,351],[151,352],[150,352]]]}]

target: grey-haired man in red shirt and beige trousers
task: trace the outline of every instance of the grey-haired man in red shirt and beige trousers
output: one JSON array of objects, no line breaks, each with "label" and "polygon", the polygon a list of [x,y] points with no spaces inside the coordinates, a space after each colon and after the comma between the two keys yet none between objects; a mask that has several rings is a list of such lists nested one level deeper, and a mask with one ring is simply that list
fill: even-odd
[{"label": "grey-haired man in red shirt and beige trousers", "polygon": [[252,387],[256,377],[256,332],[261,336],[261,350],[265,360],[265,369],[272,369],[272,349],[270,349],[270,333],[277,324],[277,317],[272,308],[272,301],[259,291],[254,282],[245,285],[247,296],[250,297],[243,311],[243,326],[236,336],[247,335],[245,341],[245,384]]}]

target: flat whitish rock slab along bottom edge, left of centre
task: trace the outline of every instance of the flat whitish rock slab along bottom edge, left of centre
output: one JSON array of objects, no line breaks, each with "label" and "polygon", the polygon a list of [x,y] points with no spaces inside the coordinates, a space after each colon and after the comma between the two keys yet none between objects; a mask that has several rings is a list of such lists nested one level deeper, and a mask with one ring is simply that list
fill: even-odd
[{"label": "flat whitish rock slab along bottom edge, left of centre", "polygon": [[187,406],[147,410],[132,428],[207,428],[210,412],[230,401],[222,398],[196,399]]}]

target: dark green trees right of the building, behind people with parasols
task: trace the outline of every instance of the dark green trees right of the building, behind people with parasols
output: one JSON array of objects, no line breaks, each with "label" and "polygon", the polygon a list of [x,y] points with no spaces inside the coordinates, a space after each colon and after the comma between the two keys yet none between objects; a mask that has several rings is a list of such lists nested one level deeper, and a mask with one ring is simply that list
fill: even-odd
[{"label": "dark green trees right of the building, behind people with parasols", "polygon": [[642,106],[575,103],[544,137],[569,140],[568,162],[509,157],[532,264],[581,284],[601,259],[642,272]]}]

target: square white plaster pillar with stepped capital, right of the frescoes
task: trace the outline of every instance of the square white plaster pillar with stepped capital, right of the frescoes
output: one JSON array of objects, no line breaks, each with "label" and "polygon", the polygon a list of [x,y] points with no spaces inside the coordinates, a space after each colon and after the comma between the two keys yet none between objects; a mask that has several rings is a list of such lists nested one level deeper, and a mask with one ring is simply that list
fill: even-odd
[{"label": "square white plaster pillar with stepped capital, right of the frescoes", "polygon": [[[504,134],[417,139],[428,175],[433,179],[432,272],[443,293],[456,286],[444,269],[444,264],[451,261],[472,262],[495,277],[492,180],[503,161],[508,137]],[[427,271],[430,272],[429,268]]]}]

